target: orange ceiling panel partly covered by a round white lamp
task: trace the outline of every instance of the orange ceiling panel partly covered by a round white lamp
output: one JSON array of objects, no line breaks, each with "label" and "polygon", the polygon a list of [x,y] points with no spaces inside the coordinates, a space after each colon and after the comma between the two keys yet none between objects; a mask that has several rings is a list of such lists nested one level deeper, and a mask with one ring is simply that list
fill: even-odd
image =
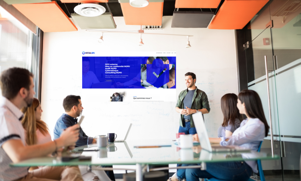
[{"label": "orange ceiling panel partly covered by a round white lamp", "polygon": [[127,25],[162,25],[163,2],[149,2],[144,8],[134,8],[130,3],[120,3]]}]

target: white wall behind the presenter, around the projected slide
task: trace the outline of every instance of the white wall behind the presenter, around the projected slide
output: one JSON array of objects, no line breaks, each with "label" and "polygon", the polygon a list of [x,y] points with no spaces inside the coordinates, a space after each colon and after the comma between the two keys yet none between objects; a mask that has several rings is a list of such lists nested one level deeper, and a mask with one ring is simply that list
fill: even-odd
[{"label": "white wall behind the presenter, around the projected slide", "polygon": [[[140,29],[140,26],[125,25],[123,17],[114,17],[114,20],[117,25],[116,31]],[[172,17],[163,17],[163,30],[147,30],[145,32],[194,35],[189,39],[191,48],[185,48],[186,37],[178,36],[143,35],[144,46],[138,46],[140,38],[138,34],[105,33],[104,43],[98,43],[97,39],[100,37],[100,33],[86,32],[80,30],[79,27],[77,32],[44,33],[41,104],[44,111],[42,120],[48,124],[50,131],[53,132],[55,122],[64,113],[62,107],[64,97],[74,94],[75,90],[79,90],[76,94],[85,95],[82,98],[82,102],[86,106],[84,111],[89,113],[90,117],[87,117],[82,127],[89,136],[100,134],[99,132],[106,134],[114,130],[115,133],[118,130],[123,132],[122,130],[126,129],[124,126],[127,127],[128,123],[123,123],[123,120],[115,122],[115,119],[108,119],[106,112],[114,114],[114,111],[112,112],[114,108],[118,107],[119,111],[126,111],[126,114],[130,115],[137,113],[140,107],[154,105],[152,102],[131,102],[130,104],[123,103],[117,106],[108,102],[96,103],[93,104],[96,106],[91,106],[91,102],[97,100],[92,100],[91,97],[88,98],[89,95],[81,92],[78,84],[74,83],[75,80],[81,80],[80,62],[82,51],[95,49],[103,52],[175,51],[177,53],[177,95],[175,101],[178,94],[186,89],[184,74],[188,71],[194,72],[197,75],[197,87],[208,94],[211,104],[210,113],[205,115],[209,136],[216,137],[217,128],[223,118],[220,109],[220,98],[226,93],[238,94],[234,30],[171,28],[171,21]],[[147,116],[148,119],[154,121],[151,124],[156,129],[139,130],[138,127],[136,129],[134,127],[131,132],[139,132],[142,136],[134,137],[134,134],[132,136],[130,134],[128,139],[145,139],[146,137],[143,135],[154,132],[159,133],[156,134],[156,138],[165,136],[166,138],[175,139],[180,117],[180,114],[176,113],[174,109],[176,102],[160,103],[161,106],[166,107],[165,111],[169,112],[171,116],[165,118],[155,114],[144,115],[144,117]],[[101,109],[98,105],[101,105]],[[90,111],[88,111],[89,109]],[[138,117],[137,119],[141,121],[141,124],[149,125],[150,122],[143,122],[144,117]],[[125,119],[124,121],[130,122],[132,120]],[[119,137],[120,139],[122,134]]]}]

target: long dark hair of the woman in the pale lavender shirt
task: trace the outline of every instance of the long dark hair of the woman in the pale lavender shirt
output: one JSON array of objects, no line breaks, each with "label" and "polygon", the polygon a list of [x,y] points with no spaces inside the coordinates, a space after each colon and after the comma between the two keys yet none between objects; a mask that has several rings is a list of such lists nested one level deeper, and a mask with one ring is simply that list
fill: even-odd
[{"label": "long dark hair of the woman in the pale lavender shirt", "polygon": [[265,136],[268,135],[268,122],[265,119],[262,103],[259,95],[254,90],[242,90],[238,94],[241,103],[245,103],[247,116],[250,118],[258,118],[265,125]]}]

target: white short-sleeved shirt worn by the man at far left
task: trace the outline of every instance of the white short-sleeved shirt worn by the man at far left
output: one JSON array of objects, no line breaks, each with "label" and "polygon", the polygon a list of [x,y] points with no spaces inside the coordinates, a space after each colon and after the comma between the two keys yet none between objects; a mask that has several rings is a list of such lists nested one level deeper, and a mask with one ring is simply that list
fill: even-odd
[{"label": "white short-sleeved shirt worn by the man at far left", "polygon": [[13,163],[2,148],[2,144],[11,139],[20,139],[24,145],[25,132],[20,120],[23,113],[5,97],[0,97],[0,180],[11,181],[28,174],[28,167],[10,167]]}]

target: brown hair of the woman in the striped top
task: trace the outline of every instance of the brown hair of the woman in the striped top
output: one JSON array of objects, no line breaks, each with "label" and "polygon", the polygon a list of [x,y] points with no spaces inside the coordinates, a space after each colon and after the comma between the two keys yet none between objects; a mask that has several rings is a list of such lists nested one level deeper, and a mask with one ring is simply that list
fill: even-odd
[{"label": "brown hair of the woman in the striped top", "polygon": [[226,127],[228,124],[234,124],[235,119],[239,119],[241,122],[242,116],[237,108],[237,95],[225,94],[221,98],[221,107],[224,115],[224,122],[222,126]]}]

